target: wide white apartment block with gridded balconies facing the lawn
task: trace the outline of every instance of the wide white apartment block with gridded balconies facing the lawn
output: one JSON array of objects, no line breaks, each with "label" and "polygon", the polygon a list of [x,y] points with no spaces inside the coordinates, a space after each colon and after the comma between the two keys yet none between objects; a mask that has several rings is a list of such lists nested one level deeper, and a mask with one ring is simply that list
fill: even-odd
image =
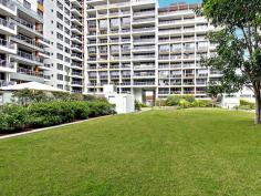
[{"label": "wide white apartment block with gridded balconies facing the lawn", "polygon": [[221,73],[200,66],[215,53],[206,34],[213,27],[197,17],[199,4],[159,8],[157,0],[85,2],[86,93],[115,84],[143,102],[169,94],[206,97],[209,81]]}]

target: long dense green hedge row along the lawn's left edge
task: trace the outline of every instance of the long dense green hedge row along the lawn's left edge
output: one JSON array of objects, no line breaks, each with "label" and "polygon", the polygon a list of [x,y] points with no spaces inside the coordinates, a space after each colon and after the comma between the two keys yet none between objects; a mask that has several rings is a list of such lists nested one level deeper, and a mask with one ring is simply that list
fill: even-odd
[{"label": "long dense green hedge row along the lawn's left edge", "polygon": [[32,103],[29,106],[9,104],[0,113],[0,131],[44,127],[114,113],[114,106],[103,101],[52,101]]}]

